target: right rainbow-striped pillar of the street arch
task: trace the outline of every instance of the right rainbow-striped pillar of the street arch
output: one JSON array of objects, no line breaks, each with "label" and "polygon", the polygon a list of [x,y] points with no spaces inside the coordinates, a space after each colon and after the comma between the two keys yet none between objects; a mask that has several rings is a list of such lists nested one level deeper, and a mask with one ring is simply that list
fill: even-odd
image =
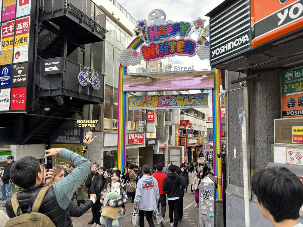
[{"label": "right rainbow-striped pillar of the street arch", "polygon": [[[221,152],[221,98],[218,97],[220,93],[221,71],[214,70],[214,88],[212,89],[212,116],[213,116],[213,141],[214,141],[214,175],[218,176],[217,182],[221,177],[222,181],[222,158],[218,158],[217,154]],[[218,184],[217,199],[223,198],[222,184]]]}]

